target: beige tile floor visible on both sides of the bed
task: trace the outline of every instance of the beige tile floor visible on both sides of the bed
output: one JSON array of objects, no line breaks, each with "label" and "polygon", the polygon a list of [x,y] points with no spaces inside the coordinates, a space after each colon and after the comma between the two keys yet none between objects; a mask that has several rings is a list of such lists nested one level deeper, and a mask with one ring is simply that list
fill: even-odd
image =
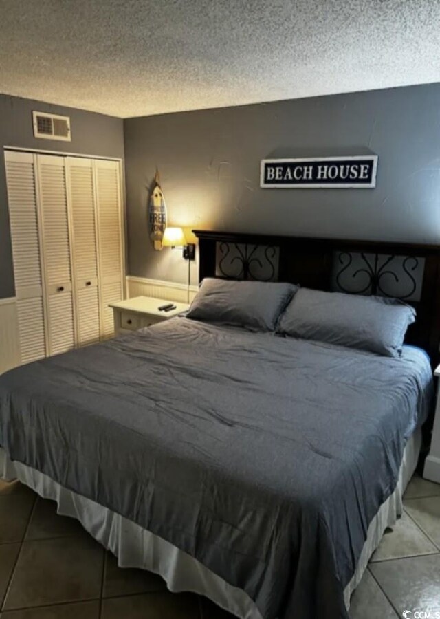
[{"label": "beige tile floor visible on both sides of the bed", "polygon": [[[385,534],[351,619],[440,611],[440,485],[413,477],[405,512]],[[232,619],[205,598],[171,594],[159,576],[115,558],[52,501],[0,481],[0,619]]]}]

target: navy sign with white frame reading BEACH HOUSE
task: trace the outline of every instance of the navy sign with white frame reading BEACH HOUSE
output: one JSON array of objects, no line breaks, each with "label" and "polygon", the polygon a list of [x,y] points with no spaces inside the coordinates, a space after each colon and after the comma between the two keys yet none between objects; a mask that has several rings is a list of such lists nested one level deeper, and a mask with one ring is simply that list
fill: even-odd
[{"label": "navy sign with white frame reading BEACH HOUSE", "polygon": [[280,188],[372,189],[377,155],[302,159],[263,159],[260,186]]}]

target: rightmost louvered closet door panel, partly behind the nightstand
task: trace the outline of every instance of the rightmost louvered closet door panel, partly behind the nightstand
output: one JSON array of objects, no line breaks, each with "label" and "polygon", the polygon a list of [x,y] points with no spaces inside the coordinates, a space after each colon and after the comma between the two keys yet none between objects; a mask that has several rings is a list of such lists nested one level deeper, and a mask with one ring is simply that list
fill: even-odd
[{"label": "rightmost louvered closet door panel, partly behind the nightstand", "polygon": [[109,303],[122,298],[122,224],[119,164],[94,160],[96,204],[98,206],[98,247],[102,335],[113,335],[113,310]]}]

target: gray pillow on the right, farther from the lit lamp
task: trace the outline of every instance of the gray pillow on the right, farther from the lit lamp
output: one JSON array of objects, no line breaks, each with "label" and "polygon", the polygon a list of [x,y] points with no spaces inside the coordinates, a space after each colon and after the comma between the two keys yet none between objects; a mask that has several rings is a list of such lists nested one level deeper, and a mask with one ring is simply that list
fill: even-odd
[{"label": "gray pillow on the right, farther from the lit lamp", "polygon": [[278,333],[397,357],[415,310],[396,299],[300,288]]}]

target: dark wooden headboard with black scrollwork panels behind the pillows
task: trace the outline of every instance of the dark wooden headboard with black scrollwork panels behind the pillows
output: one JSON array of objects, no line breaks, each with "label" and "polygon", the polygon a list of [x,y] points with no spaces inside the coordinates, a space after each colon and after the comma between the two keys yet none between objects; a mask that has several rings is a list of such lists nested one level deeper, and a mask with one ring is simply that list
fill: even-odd
[{"label": "dark wooden headboard with black scrollwork panels behind the pillows", "polygon": [[[433,366],[439,362],[440,246],[193,232],[199,239],[199,281],[287,281],[318,290],[400,298],[417,310],[406,340],[425,349]],[[390,292],[396,286],[399,290]]]}]

